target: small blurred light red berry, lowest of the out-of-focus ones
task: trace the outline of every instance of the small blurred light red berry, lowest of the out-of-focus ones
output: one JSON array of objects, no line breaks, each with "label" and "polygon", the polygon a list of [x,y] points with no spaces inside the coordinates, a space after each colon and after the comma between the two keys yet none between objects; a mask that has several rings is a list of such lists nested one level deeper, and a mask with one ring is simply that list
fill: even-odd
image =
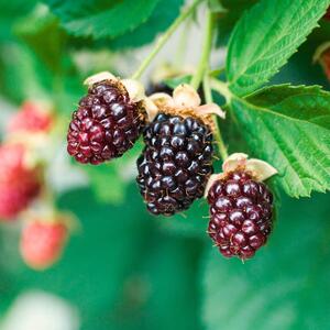
[{"label": "small blurred light red berry, lowest of the out-of-focus ones", "polygon": [[62,222],[29,222],[21,237],[24,262],[35,270],[50,267],[61,256],[66,239],[67,228]]}]

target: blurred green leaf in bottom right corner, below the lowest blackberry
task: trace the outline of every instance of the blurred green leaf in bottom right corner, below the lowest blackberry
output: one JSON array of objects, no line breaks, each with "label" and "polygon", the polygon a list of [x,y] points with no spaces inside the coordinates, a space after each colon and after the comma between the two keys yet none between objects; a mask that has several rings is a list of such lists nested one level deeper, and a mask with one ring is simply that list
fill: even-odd
[{"label": "blurred green leaf in bottom right corner, below the lowest blackberry", "polygon": [[287,199],[268,244],[242,263],[209,244],[202,276],[207,330],[329,327],[329,196]]}]

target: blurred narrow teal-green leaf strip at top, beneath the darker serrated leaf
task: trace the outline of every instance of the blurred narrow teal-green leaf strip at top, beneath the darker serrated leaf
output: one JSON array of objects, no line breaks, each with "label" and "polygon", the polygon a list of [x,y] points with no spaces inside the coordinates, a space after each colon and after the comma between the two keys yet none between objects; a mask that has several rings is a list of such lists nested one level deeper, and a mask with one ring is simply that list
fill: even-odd
[{"label": "blurred narrow teal-green leaf strip at top, beneath the darker serrated leaf", "polygon": [[184,0],[160,0],[152,15],[138,29],[110,42],[111,51],[140,47],[154,41],[179,14]]}]

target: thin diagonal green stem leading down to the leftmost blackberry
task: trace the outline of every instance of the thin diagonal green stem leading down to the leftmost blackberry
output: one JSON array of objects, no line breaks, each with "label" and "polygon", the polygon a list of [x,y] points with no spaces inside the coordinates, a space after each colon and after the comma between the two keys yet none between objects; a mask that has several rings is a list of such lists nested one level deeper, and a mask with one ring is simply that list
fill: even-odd
[{"label": "thin diagonal green stem leading down to the leftmost blackberry", "polygon": [[194,0],[193,3],[184,10],[177,19],[169,25],[167,31],[161,35],[157,40],[155,47],[151,51],[147,57],[141,63],[140,67],[132,75],[132,79],[140,79],[145,69],[150,66],[153,58],[158,54],[158,52],[163,48],[168,38],[173,35],[173,33],[177,30],[177,28],[190,15],[195,12],[197,6],[204,0]]}]

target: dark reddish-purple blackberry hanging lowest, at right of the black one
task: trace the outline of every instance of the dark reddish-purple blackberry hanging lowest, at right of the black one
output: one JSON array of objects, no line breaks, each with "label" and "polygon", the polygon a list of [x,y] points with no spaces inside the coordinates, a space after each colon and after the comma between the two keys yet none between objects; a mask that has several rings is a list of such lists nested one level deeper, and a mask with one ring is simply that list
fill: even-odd
[{"label": "dark reddish-purple blackberry hanging lowest, at right of the black one", "polygon": [[208,232],[224,256],[246,260],[266,243],[272,230],[273,195],[251,174],[235,170],[217,180],[208,201]]}]

